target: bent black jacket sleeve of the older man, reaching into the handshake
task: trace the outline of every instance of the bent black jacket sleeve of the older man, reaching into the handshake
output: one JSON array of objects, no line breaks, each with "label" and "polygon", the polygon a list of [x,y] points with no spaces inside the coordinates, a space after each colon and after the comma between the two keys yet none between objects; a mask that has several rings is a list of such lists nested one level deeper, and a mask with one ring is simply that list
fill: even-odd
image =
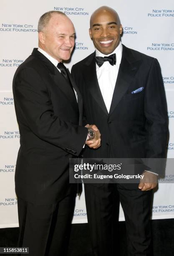
[{"label": "bent black jacket sleeve of the older man, reaching into the handshake", "polygon": [[88,130],[54,114],[48,90],[39,74],[32,68],[22,69],[13,84],[15,108],[30,130],[43,141],[78,156]]}]

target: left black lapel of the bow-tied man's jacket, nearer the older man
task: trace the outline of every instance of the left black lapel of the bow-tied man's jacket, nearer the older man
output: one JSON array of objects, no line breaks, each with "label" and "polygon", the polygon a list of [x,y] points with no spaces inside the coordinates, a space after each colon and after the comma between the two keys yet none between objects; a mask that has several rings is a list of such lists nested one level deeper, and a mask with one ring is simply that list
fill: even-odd
[{"label": "left black lapel of the bow-tied man's jacket, nearer the older man", "polygon": [[98,105],[101,107],[103,112],[108,115],[108,110],[104,103],[101,90],[98,84],[97,74],[96,74],[96,61],[94,59],[95,52],[91,55],[91,59],[86,63],[86,69],[84,73],[84,79],[86,86],[90,91],[92,97],[96,100]]}]

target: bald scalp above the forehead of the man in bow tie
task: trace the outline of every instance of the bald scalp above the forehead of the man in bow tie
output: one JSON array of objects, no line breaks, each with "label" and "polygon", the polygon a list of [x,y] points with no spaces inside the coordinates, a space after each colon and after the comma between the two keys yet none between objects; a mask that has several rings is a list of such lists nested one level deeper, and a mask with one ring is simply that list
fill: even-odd
[{"label": "bald scalp above the forehead of the man in bow tie", "polygon": [[93,20],[96,18],[96,16],[100,16],[105,13],[112,13],[112,15],[115,16],[115,19],[118,21],[118,25],[120,25],[120,18],[119,18],[118,13],[108,6],[101,6],[92,13],[91,18],[90,18],[90,28],[91,28],[91,26],[93,24]]}]

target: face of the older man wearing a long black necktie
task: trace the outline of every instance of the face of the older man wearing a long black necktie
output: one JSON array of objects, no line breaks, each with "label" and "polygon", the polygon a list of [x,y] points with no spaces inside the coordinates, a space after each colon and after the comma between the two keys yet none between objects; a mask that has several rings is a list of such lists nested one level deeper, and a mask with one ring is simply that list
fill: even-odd
[{"label": "face of the older man wearing a long black necktie", "polygon": [[53,13],[44,31],[39,32],[39,47],[61,62],[71,57],[75,44],[75,30],[65,15]]}]

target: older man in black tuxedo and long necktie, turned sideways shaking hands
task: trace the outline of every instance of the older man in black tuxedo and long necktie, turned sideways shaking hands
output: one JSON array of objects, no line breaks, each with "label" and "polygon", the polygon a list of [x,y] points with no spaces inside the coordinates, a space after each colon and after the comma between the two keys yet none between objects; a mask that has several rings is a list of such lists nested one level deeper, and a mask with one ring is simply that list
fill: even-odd
[{"label": "older man in black tuxedo and long necktie, turned sideways shaking hands", "polygon": [[18,246],[29,247],[31,256],[63,256],[77,192],[69,184],[69,158],[78,157],[84,143],[100,146],[100,133],[92,126],[95,137],[86,141],[92,127],[81,126],[81,94],[62,63],[74,47],[73,23],[64,13],[51,11],[40,17],[38,32],[39,48],[13,79],[20,130]]}]

